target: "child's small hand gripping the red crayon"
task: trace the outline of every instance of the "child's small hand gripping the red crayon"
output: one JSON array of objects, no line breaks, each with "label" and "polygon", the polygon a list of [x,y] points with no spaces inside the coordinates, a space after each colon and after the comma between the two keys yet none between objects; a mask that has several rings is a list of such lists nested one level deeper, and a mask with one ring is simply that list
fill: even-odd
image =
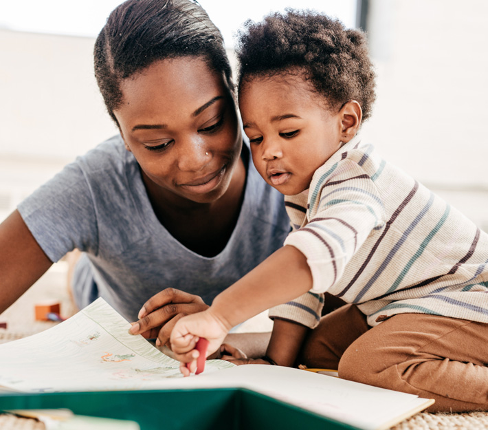
[{"label": "child's small hand gripping the red crayon", "polygon": [[[219,319],[209,308],[203,312],[184,316],[179,319],[171,332],[171,350],[175,358],[181,362],[179,369],[184,376],[197,369],[199,351],[195,349],[199,338],[209,341],[207,356],[217,351],[230,328],[225,321]],[[190,363],[190,369],[186,367]]]}]

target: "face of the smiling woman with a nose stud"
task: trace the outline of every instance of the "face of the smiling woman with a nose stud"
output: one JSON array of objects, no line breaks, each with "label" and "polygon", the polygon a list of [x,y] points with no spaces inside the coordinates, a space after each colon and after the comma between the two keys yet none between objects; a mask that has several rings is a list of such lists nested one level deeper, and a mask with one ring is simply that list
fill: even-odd
[{"label": "face of the smiling woman with a nose stud", "polygon": [[121,89],[114,114],[148,191],[173,203],[219,199],[242,145],[223,76],[203,58],[173,58],[125,79]]}]

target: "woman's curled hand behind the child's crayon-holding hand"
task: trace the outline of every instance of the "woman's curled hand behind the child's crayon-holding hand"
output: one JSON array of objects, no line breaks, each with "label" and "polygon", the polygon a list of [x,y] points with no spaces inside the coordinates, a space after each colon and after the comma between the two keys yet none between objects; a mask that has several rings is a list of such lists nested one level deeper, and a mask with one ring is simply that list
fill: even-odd
[{"label": "woman's curled hand behind the child's crayon-holding hand", "polygon": [[145,338],[157,338],[156,345],[170,347],[169,338],[176,322],[185,315],[208,309],[201,297],[176,288],[166,288],[146,301],[139,312],[139,321],[129,332]]}]

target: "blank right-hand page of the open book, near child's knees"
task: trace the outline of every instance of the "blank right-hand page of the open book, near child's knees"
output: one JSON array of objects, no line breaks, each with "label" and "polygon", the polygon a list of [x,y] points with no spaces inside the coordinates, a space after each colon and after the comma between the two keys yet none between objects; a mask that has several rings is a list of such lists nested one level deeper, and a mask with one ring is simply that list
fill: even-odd
[{"label": "blank right-hand page of the open book, near child's knees", "polygon": [[199,385],[207,380],[208,387],[232,380],[234,386],[365,430],[389,429],[434,403],[414,394],[282,366],[242,365],[192,379],[199,379]]}]

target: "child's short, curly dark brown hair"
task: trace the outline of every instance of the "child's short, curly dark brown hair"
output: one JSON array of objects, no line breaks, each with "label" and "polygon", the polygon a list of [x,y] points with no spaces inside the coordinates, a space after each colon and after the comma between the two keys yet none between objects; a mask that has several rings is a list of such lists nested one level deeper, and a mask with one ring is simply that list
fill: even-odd
[{"label": "child's short, curly dark brown hair", "polygon": [[238,35],[239,89],[254,76],[304,74],[329,107],[357,100],[363,120],[370,116],[375,72],[362,31],[318,12],[287,9],[260,23],[246,21]]}]

